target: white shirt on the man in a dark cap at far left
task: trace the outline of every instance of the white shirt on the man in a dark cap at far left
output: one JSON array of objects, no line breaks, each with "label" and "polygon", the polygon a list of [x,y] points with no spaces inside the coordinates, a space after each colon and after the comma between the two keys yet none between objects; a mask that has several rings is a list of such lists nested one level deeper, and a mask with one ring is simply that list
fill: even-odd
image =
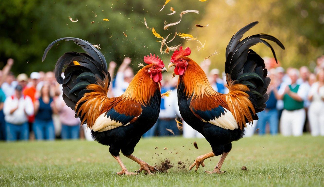
[{"label": "white shirt on the man in a dark cap at far left", "polygon": [[[18,109],[10,114],[10,110],[17,106]],[[28,95],[21,96],[20,99],[16,96],[10,96],[5,100],[3,112],[5,114],[6,122],[12,124],[23,124],[28,121],[28,116],[34,114],[34,104]]]}]

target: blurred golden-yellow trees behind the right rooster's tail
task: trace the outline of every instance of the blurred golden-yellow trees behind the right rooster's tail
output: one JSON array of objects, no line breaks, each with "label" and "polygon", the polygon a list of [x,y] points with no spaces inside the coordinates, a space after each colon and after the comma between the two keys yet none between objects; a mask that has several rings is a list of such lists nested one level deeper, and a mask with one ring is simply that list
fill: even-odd
[{"label": "blurred golden-yellow trees behind the right rooster's tail", "polygon": [[[211,68],[224,70],[225,49],[230,38],[240,28],[253,22],[260,23],[244,36],[267,33],[278,38],[286,47],[281,50],[273,44],[278,60],[284,68],[299,68],[310,65],[324,54],[324,2],[320,0],[268,0],[268,1],[209,1],[202,25],[191,34],[204,42],[205,50],[195,51],[191,57],[198,63],[215,51],[219,55],[210,57]],[[196,44],[188,44],[196,48]],[[261,56],[272,57],[264,44],[252,48]],[[313,70],[313,69],[311,69]]]}]

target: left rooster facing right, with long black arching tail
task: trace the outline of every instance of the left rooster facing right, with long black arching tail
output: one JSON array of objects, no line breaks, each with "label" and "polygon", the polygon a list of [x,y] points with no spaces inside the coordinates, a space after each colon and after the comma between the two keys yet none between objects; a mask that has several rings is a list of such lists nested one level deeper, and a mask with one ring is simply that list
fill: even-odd
[{"label": "left rooster facing right, with long black arching tail", "polygon": [[[129,87],[119,97],[108,98],[110,74],[103,54],[94,45],[78,38],[61,38],[52,42],[47,52],[58,41],[73,40],[87,53],[67,52],[55,65],[55,78],[63,84],[63,99],[75,110],[81,124],[87,123],[92,137],[103,145],[109,145],[110,154],[121,166],[116,174],[137,174],[142,170],[152,174],[157,169],[132,155],[141,136],[156,122],[161,102],[160,81],[167,71],[163,61],[155,55],[144,56],[145,67],[140,69]],[[64,69],[64,77],[61,73]],[[140,164],[131,173],[122,163],[119,152]]]}]

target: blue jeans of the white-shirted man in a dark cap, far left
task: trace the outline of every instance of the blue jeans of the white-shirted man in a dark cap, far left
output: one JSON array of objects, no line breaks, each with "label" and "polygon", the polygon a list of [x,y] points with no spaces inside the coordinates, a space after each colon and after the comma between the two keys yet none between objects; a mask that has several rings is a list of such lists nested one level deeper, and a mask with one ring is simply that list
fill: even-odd
[{"label": "blue jeans of the white-shirted man in a dark cap, far left", "polygon": [[6,122],[6,133],[7,133],[6,135],[7,141],[28,140],[29,139],[28,122],[25,122],[21,125],[15,125]]}]

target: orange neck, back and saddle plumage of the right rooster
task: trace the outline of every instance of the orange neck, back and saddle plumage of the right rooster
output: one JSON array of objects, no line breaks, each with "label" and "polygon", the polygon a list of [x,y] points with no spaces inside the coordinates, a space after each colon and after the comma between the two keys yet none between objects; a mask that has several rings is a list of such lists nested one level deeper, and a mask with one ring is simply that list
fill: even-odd
[{"label": "orange neck, back and saddle plumage of the right rooster", "polygon": [[179,82],[182,81],[185,84],[184,91],[187,97],[192,95],[193,100],[199,101],[192,102],[195,103],[194,108],[206,111],[221,105],[232,112],[240,129],[246,127],[245,118],[249,123],[253,122],[250,110],[255,114],[255,109],[246,93],[249,91],[246,85],[232,81],[230,76],[227,76],[229,85],[226,87],[229,93],[218,93],[214,91],[205,72],[195,61],[188,57],[181,57],[188,61],[188,66],[183,76],[180,76]]}]

